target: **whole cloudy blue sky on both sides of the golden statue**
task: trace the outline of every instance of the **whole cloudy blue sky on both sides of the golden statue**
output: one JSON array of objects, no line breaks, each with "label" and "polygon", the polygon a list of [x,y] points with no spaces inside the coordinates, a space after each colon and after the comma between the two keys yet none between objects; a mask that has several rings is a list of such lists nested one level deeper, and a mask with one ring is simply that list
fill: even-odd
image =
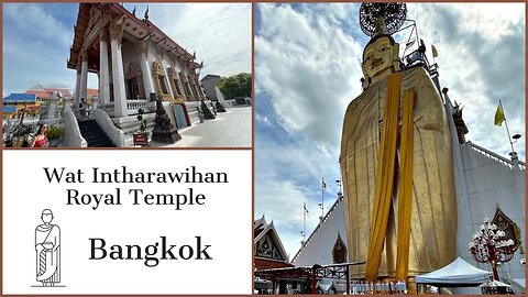
[{"label": "whole cloudy blue sky on both sides of the golden statue", "polygon": [[[359,7],[256,6],[255,218],[274,220],[290,256],[300,248],[304,202],[310,211],[307,233],[317,226],[321,177],[328,184],[326,211],[339,190],[342,121],[361,92],[361,55],[369,41],[359,26]],[[515,145],[524,161],[525,4],[408,3],[407,9],[429,61],[430,45],[438,50],[442,87],[464,107],[466,139],[507,156],[506,130],[493,124],[501,99],[512,134],[522,135]],[[405,41],[409,33],[402,34]]]}]

